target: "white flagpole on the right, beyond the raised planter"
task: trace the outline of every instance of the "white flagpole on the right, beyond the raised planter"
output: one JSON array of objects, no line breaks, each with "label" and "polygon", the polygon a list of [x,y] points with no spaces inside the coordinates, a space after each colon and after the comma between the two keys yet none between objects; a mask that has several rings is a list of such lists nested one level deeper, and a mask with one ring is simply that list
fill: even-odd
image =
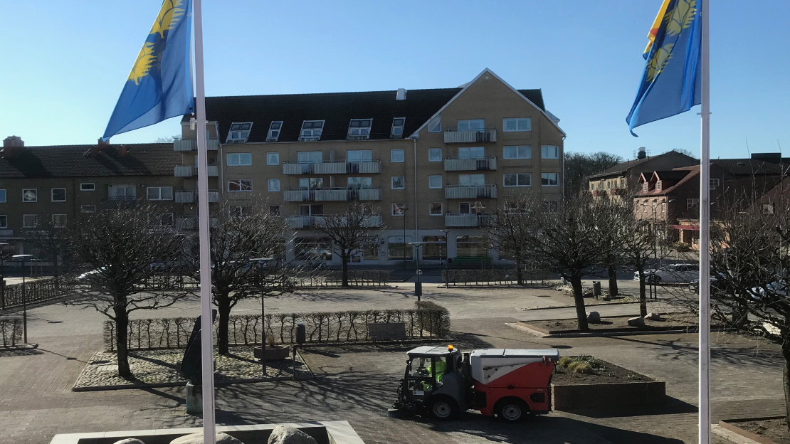
[{"label": "white flagpole on the right, beyond the raised planter", "polygon": [[710,444],[710,3],[702,2],[702,146],[699,174],[699,444]]}]

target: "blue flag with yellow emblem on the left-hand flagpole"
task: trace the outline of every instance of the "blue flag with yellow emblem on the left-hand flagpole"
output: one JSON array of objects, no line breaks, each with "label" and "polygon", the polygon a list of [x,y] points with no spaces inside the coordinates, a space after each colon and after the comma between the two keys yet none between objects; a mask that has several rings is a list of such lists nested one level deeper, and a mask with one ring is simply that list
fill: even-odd
[{"label": "blue flag with yellow emblem on the left-hand flagpole", "polygon": [[194,111],[192,0],[164,0],[134,61],[103,140]]}]

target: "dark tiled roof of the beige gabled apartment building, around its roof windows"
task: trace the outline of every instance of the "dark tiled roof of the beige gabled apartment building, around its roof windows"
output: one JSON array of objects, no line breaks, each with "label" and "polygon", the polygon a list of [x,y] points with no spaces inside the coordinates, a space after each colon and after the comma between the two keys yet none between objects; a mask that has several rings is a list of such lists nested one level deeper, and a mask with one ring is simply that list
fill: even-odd
[{"label": "dark tiled roof of the beige gabled apartment building, around its roof windows", "polygon": [[[397,91],[206,97],[205,107],[207,119],[219,122],[222,143],[233,122],[253,122],[247,141],[262,142],[271,122],[283,121],[277,141],[297,141],[305,120],[325,120],[322,141],[345,140],[351,119],[373,119],[370,138],[389,139],[393,119],[406,118],[403,137],[408,137],[461,89],[412,89],[406,100],[395,100]],[[544,110],[540,89],[519,92]]]}]

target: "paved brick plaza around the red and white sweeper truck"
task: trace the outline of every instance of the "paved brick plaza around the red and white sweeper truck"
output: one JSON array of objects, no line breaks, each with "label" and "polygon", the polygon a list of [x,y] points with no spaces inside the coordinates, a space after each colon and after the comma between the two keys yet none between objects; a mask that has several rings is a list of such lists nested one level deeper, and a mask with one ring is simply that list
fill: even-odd
[{"label": "paved brick plaza around the red and white sweeper truck", "polygon": [[[413,307],[413,284],[385,290],[314,290],[266,300],[267,310],[367,310]],[[633,287],[623,281],[623,287]],[[541,442],[547,444],[696,442],[697,359],[695,334],[623,337],[546,338],[506,325],[525,319],[569,318],[572,298],[545,288],[436,288],[426,284],[424,299],[450,310],[453,342],[462,349],[517,347],[560,349],[562,355],[589,354],[667,381],[668,405],[626,412],[552,412],[528,423],[498,423],[476,413],[462,420],[434,423],[417,417],[391,419],[407,348],[324,346],[306,348],[303,357],[316,378],[217,389],[217,421],[222,424],[348,420],[368,443]],[[664,310],[653,303],[651,310]],[[246,301],[234,313],[254,313]],[[136,317],[192,316],[198,301]],[[603,316],[635,314],[637,304],[596,306]],[[71,391],[85,362],[103,349],[103,316],[92,309],[49,304],[32,307],[32,352],[0,352],[0,444],[44,444],[58,433],[196,427],[199,418],[184,412],[182,388]],[[782,359],[773,344],[725,333],[713,335],[714,420],[784,413]]]}]

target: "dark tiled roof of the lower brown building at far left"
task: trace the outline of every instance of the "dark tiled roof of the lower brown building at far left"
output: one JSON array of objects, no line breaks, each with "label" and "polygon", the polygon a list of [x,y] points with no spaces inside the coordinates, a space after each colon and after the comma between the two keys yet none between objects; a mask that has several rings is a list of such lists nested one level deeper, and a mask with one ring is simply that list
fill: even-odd
[{"label": "dark tiled roof of the lower brown building at far left", "polygon": [[84,157],[96,145],[25,147],[15,157],[0,157],[0,179],[173,175],[173,167],[181,161],[181,153],[173,151],[171,143],[109,146],[126,146],[128,151],[125,156],[100,152]]}]

